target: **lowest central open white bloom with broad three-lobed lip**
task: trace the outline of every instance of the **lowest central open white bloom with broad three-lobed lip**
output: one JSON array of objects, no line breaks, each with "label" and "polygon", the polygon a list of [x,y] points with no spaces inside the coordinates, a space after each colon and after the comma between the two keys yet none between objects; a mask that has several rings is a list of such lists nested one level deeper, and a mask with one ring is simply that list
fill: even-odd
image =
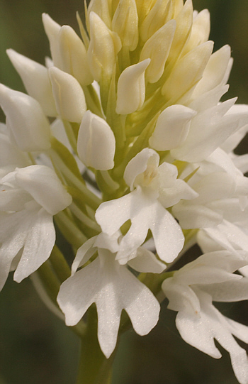
[{"label": "lowest central open white bloom with broad three-lobed lip", "polygon": [[[96,251],[96,259],[76,272]],[[96,303],[98,341],[107,358],[115,349],[123,309],[140,335],[149,333],[157,324],[160,309],[152,292],[115,260],[117,251],[116,236],[100,234],[86,241],[77,251],[72,276],[62,283],[57,297],[70,326],[77,324],[91,304]]]}]

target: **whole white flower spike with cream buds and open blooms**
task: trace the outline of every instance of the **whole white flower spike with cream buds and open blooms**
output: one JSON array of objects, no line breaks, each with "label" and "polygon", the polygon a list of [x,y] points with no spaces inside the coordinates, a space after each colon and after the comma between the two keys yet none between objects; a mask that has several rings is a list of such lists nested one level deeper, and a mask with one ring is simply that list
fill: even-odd
[{"label": "whole white flower spike with cream buds and open blooms", "polygon": [[[50,257],[54,219],[75,252],[57,297],[67,325],[96,303],[109,357],[123,309],[145,335],[162,290],[181,337],[214,358],[218,340],[247,384],[233,336],[248,328],[213,306],[248,299],[248,155],[233,152],[248,106],[220,102],[230,47],[212,53],[191,0],[91,0],[78,21],[81,38],[43,15],[46,66],[7,51],[28,94],[0,85],[0,287]],[[173,271],[194,243],[203,256]]]}]

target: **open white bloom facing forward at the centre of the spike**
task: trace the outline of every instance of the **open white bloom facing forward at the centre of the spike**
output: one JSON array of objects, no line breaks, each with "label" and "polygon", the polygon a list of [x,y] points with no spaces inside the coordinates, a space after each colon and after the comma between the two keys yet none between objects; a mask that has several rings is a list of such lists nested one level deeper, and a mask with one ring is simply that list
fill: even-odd
[{"label": "open white bloom facing forward at the centre of the spike", "polygon": [[159,258],[169,263],[181,251],[184,235],[166,208],[180,199],[193,199],[197,194],[176,177],[174,165],[159,165],[159,155],[145,148],[125,168],[124,179],[131,192],[104,202],[97,209],[96,221],[110,236],[129,219],[132,223],[120,242],[117,258],[121,263],[126,263],[130,254],[141,246],[149,229]]}]

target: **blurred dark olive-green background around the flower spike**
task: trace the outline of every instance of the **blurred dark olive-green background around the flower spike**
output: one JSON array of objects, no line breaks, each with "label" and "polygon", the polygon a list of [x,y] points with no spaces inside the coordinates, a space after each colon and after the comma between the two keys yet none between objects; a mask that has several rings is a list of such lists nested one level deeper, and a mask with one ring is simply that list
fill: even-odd
[{"label": "blurred dark olive-green background around the flower spike", "polygon": [[[210,39],[215,50],[230,44],[234,67],[228,97],[248,104],[248,1],[195,0],[198,11],[211,13]],[[6,56],[13,48],[44,63],[49,55],[41,13],[78,31],[76,11],[82,0],[0,0],[0,82],[24,90]],[[247,141],[242,152],[247,152]],[[237,384],[229,355],[220,360],[193,349],[181,340],[175,313],[162,305],[157,327],[147,336],[130,331],[123,336],[114,366],[113,384]],[[247,302],[222,305],[222,313],[248,324]],[[77,336],[51,314],[26,279],[10,276],[0,295],[0,384],[74,384],[79,342]]]}]

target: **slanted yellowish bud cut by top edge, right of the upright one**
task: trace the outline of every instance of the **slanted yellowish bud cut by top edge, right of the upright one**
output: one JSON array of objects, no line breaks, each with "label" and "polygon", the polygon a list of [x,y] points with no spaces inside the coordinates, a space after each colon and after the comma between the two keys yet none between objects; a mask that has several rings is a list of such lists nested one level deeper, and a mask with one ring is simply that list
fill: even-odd
[{"label": "slanted yellowish bud cut by top edge, right of the upright one", "polygon": [[147,41],[155,32],[162,28],[172,17],[172,1],[157,0],[151,11],[140,26],[140,36]]}]

